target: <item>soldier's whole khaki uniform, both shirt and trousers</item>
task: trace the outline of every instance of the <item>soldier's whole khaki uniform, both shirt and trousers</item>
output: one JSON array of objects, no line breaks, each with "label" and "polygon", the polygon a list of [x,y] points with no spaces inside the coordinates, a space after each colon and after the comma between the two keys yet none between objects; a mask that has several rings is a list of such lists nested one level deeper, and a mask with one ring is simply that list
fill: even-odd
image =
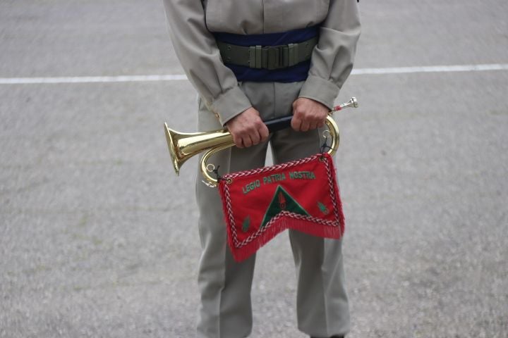
[{"label": "soldier's whole khaki uniform, both shirt and trousers", "polygon": [[[332,108],[351,73],[360,35],[356,0],[164,0],[176,55],[200,95],[200,131],[218,129],[253,106],[267,120],[289,115],[298,97]],[[211,32],[240,35],[286,32],[320,24],[308,78],[303,82],[241,82],[222,63]],[[270,134],[274,163],[317,153],[319,130]],[[264,165],[268,143],[233,147],[214,156],[220,172]],[[252,328],[250,287],[255,255],[236,263],[226,245],[226,227],[217,189],[198,174],[202,256],[198,337],[247,337]],[[313,337],[349,331],[341,241],[289,231],[297,278],[298,328]]]}]

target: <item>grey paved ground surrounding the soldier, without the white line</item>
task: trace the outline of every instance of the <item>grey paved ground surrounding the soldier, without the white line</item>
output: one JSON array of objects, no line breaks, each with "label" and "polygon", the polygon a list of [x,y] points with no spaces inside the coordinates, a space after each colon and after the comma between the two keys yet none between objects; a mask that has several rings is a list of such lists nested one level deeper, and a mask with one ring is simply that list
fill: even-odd
[{"label": "grey paved ground surrounding the soldier, without the white line", "polygon": [[[508,63],[504,0],[361,1],[356,68]],[[0,77],[181,74],[161,1],[2,0]],[[356,75],[337,101],[351,338],[508,337],[508,71]],[[186,81],[0,85],[0,337],[193,337]],[[274,259],[277,257],[277,259]],[[296,330],[286,234],[252,337]]]}]

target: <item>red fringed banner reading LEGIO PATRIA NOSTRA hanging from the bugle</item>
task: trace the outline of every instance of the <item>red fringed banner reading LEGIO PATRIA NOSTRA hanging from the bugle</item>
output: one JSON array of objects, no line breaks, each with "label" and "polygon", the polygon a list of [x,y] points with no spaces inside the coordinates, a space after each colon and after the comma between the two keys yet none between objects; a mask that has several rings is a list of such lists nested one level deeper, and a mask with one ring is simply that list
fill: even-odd
[{"label": "red fringed banner reading LEGIO PATRIA NOSTRA hanging from the bugle", "polygon": [[279,232],[339,239],[344,214],[329,154],[229,173],[219,180],[228,244],[243,261]]}]

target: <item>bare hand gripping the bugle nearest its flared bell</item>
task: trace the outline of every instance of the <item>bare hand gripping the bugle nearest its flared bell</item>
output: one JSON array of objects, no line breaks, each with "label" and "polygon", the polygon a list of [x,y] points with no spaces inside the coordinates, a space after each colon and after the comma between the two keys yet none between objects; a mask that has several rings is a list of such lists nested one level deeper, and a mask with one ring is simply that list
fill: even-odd
[{"label": "bare hand gripping the bugle nearest its flared bell", "polygon": [[253,107],[231,118],[226,127],[238,148],[256,145],[268,139],[268,128],[262,122],[259,111]]}]

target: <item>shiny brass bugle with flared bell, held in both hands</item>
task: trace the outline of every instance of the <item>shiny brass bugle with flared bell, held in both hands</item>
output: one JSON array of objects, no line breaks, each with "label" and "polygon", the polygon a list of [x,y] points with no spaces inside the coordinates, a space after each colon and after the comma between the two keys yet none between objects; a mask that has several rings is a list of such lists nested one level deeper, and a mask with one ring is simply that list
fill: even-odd
[{"label": "shiny brass bugle with flared bell, held in both hands", "polygon": [[[339,111],[342,108],[358,107],[358,101],[353,97],[351,100],[344,104],[335,106],[326,120],[326,125],[329,129],[329,134],[332,139],[332,144],[329,146],[329,154],[333,155],[339,147],[339,128],[332,118],[334,111]],[[217,184],[217,180],[209,175],[213,170],[213,165],[207,165],[207,159],[218,151],[222,151],[231,146],[234,146],[233,136],[229,131],[224,128],[210,132],[176,132],[171,130],[167,123],[164,123],[164,132],[166,134],[167,145],[169,154],[171,155],[171,162],[176,175],[179,175],[180,168],[189,158],[200,154],[202,151],[207,151],[201,158],[201,171],[210,186]]]}]

